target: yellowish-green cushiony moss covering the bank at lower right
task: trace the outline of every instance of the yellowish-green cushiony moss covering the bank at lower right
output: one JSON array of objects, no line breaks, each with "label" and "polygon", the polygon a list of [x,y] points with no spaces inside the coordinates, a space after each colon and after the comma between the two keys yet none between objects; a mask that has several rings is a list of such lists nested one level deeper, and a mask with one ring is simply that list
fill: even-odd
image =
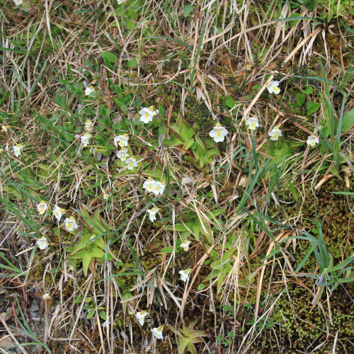
[{"label": "yellowish-green cushiony moss covering the bank at lower right", "polygon": [[[319,176],[319,180],[322,177]],[[353,178],[351,178],[350,185],[350,190],[353,190]],[[333,264],[336,265],[343,261],[344,258],[350,256],[354,249],[353,241],[349,237],[350,232],[353,230],[354,217],[348,207],[347,196],[331,194],[335,190],[345,190],[346,186],[338,178],[331,178],[321,186],[315,197],[312,195],[309,183],[304,186],[304,189],[307,191],[307,197],[301,210],[298,205],[287,204],[288,206],[282,211],[279,211],[279,208],[270,207],[268,215],[282,221],[286,219],[285,215],[290,215],[290,213],[299,215],[299,212],[301,212],[302,219],[300,219],[299,224],[301,224],[301,227],[308,227],[311,230],[310,233],[316,236],[315,224],[312,222],[315,219],[314,200],[316,200],[316,212],[319,221],[321,222],[324,219],[322,227],[324,241],[329,253],[333,256]],[[285,193],[282,198],[287,202],[290,201],[285,197]],[[287,247],[286,252],[290,261],[293,260],[292,267],[294,269],[304,258],[310,246],[308,241],[298,239],[295,250],[292,246]],[[266,289],[268,289],[268,285],[272,281],[279,282],[283,280],[283,269],[280,268],[278,263],[273,263],[273,265],[273,272],[270,267],[266,268],[265,271],[263,285]],[[316,258],[313,255],[304,264],[302,272],[319,273]],[[273,278],[270,279],[272,274]],[[279,274],[279,279],[275,277],[277,274]],[[295,278],[292,275],[287,275],[287,286],[282,285],[275,287],[273,290],[274,297],[284,292],[273,308],[273,321],[275,322],[274,326],[276,326],[278,338],[272,336],[272,331],[265,329],[259,340],[253,344],[252,349],[261,350],[261,353],[270,353],[272,350],[278,352],[279,345],[283,350],[290,350],[291,353],[304,350],[308,352],[309,350],[314,350],[319,343],[324,343],[318,352],[324,353],[326,350],[331,351],[333,349],[333,340],[336,333],[338,333],[338,341],[341,341],[341,348],[350,350],[352,348],[350,342],[344,339],[353,339],[354,307],[353,300],[350,297],[350,294],[353,294],[354,291],[353,282],[341,285],[331,294],[329,289],[325,290],[319,299],[321,307],[316,305],[316,307],[312,308],[313,293],[316,293],[318,289],[314,285],[312,278]],[[262,292],[261,303],[266,297],[268,297],[267,292]],[[269,302],[269,298],[268,303],[272,303]],[[328,304],[330,304],[330,310]],[[244,321],[246,318],[247,316],[244,314],[239,321]],[[330,319],[332,319],[332,322]],[[327,332],[329,336],[327,336]]]}]

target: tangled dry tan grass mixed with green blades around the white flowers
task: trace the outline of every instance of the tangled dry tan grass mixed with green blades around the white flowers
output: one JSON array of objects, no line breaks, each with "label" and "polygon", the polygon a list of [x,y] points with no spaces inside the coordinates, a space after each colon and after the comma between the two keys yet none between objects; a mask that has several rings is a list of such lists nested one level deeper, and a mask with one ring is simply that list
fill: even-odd
[{"label": "tangled dry tan grass mixed with green blades around the white flowers", "polygon": [[[312,193],[316,195],[334,175],[333,165],[326,164],[332,159],[330,153],[304,147],[284,159],[279,176],[265,173],[248,189],[248,183],[258,178],[262,164],[272,156],[267,149],[268,131],[282,125],[287,139],[302,143],[306,141],[304,136],[314,131],[312,118],[304,113],[290,114],[280,96],[266,94],[265,76],[269,75],[270,80],[281,76],[281,95],[295,99],[294,92],[299,91],[300,84],[289,83],[297,74],[295,69],[309,67],[312,70],[309,76],[311,73],[320,76],[319,66],[314,63],[314,58],[319,57],[328,79],[341,83],[351,66],[353,34],[343,32],[340,18],[326,28],[314,25],[319,8],[315,11],[304,6],[292,8],[286,1],[280,3],[282,18],[294,13],[309,18],[292,26],[279,21],[277,1],[258,4],[250,0],[195,0],[188,2],[194,6],[188,17],[183,16],[185,1],[128,2],[132,6],[141,3],[135,17],[129,8],[120,13],[114,0],[27,1],[27,7],[22,8],[14,8],[11,1],[0,2],[3,11],[0,113],[4,124],[11,125],[11,130],[1,133],[1,142],[4,149],[20,142],[25,142],[28,148],[27,154],[17,160],[17,167],[8,159],[1,160],[1,194],[12,206],[1,202],[0,251],[22,273],[11,275],[11,270],[3,269],[0,305],[5,311],[13,310],[8,318],[0,316],[3,324],[0,348],[5,339],[11,338],[10,343],[15,343],[23,353],[44,352],[41,343],[52,353],[177,353],[178,336],[167,327],[165,341],[159,342],[152,338],[146,325],[139,326],[132,314],[147,309],[146,321],[151,327],[170,324],[180,329],[183,321],[188,325],[199,318],[198,329],[208,337],[199,344],[198,353],[253,353],[264,333],[272,333],[277,343],[273,350],[281,352],[293,344],[292,334],[282,338],[276,329],[267,329],[266,324],[278,301],[286,297],[292,301],[287,292],[288,282],[297,282],[313,297],[317,289],[313,283],[294,277],[297,263],[292,253],[299,247],[298,240],[287,241],[281,253],[261,260],[270,255],[275,242],[298,235],[298,229],[303,228],[305,200]],[[268,11],[265,4],[270,6]],[[127,29],[125,16],[131,16],[134,23],[131,30]],[[353,23],[350,17],[346,21]],[[339,49],[338,42],[329,41],[332,33],[340,43]],[[102,52],[117,56],[114,69],[103,62]],[[130,59],[139,64],[127,67]],[[277,71],[280,60],[282,72]],[[250,72],[246,64],[251,64]],[[80,82],[89,86],[92,81],[96,81],[101,97],[85,101],[74,91],[74,85]],[[73,158],[72,151],[79,140],[60,144],[61,137],[54,129],[60,127],[64,132],[69,129],[65,124],[71,120],[75,127],[82,127],[80,110],[86,108],[94,112],[95,116],[90,118],[97,126],[103,126],[101,106],[110,108],[111,127],[125,118],[133,120],[137,108],[131,103],[126,112],[122,110],[114,100],[118,93],[110,89],[112,84],[127,86],[125,94],[129,93],[133,100],[140,98],[143,105],[162,105],[167,125],[164,136],[171,140],[176,135],[171,125],[178,117],[203,139],[214,120],[224,122],[231,132],[227,144],[221,145],[219,156],[207,168],[200,168],[193,159],[185,159],[185,156],[193,158],[195,151],[187,151],[180,145],[166,149],[161,142],[163,137],[156,132],[140,126],[138,134],[137,128],[130,125],[136,156],[144,158],[152,171],[169,171],[171,178],[171,190],[163,200],[162,220],[154,226],[147,225],[144,207],[152,200],[142,193],[147,174],[141,166],[134,173],[118,176],[120,171],[114,158],[105,154],[101,160],[94,160],[95,166],[93,159],[88,165],[87,159]],[[336,86],[331,90],[333,105],[339,112],[339,93]],[[353,90],[353,76],[343,90],[347,93]],[[56,95],[67,101],[66,108],[55,99]],[[225,105],[226,96],[234,99],[233,108]],[[353,97],[348,98],[346,111],[350,107]],[[261,124],[254,137],[256,166],[251,164],[252,135],[245,127],[246,119],[251,116],[258,116]],[[323,116],[321,107],[316,112],[316,126],[324,125]],[[47,127],[44,121],[50,122]],[[107,137],[104,132],[100,134]],[[341,141],[347,156],[353,156],[353,128],[342,135]],[[43,181],[38,178],[43,173],[41,164],[47,165],[49,171]],[[320,172],[322,165],[326,170]],[[307,173],[299,173],[304,170]],[[347,173],[347,188],[353,188],[352,171],[343,173]],[[272,187],[275,178],[279,183]],[[12,187],[8,179],[13,181]],[[294,185],[299,199],[297,215],[292,215],[288,207],[293,205],[293,198],[287,183]],[[309,184],[311,187],[307,188]],[[23,194],[23,188],[28,194]],[[249,198],[242,200],[245,190]],[[103,199],[104,192],[110,195],[108,202]],[[89,272],[85,277],[80,267],[69,268],[67,247],[81,236],[79,233],[69,238],[64,229],[54,234],[56,224],[47,221],[50,213],[38,217],[35,198],[48,197],[53,205],[62,205],[72,212],[86,210],[89,215],[98,212],[100,222],[111,230],[122,227],[115,234],[119,240],[110,246],[113,259],[96,264],[97,274]],[[243,207],[239,207],[240,203]],[[18,207],[25,218],[19,218],[12,207]],[[213,216],[215,210],[222,210],[222,215]],[[284,217],[279,224],[284,224],[285,229],[272,223],[278,219],[278,213]],[[181,232],[175,226],[189,222],[190,215],[200,222],[201,232],[198,236],[194,229],[190,230],[193,247],[183,258],[176,253]],[[264,227],[254,221],[260,215],[268,216],[262,219]],[[274,218],[272,222],[270,217]],[[51,236],[50,249],[32,253],[31,235],[35,232],[29,224],[38,224],[41,233]],[[169,230],[171,226],[173,231]],[[273,240],[267,229],[271,230]],[[108,238],[107,242],[113,239]],[[160,253],[169,246],[175,247],[175,251]],[[229,273],[205,282],[203,279],[212,271],[210,263],[205,261],[215,261],[212,257],[216,255],[219,259],[233,247]],[[117,266],[120,259],[125,264]],[[131,272],[133,265],[139,267],[140,273],[117,276]],[[185,268],[192,269],[186,285],[178,280],[178,270]],[[127,283],[126,287],[120,284],[120,279]],[[205,282],[205,288],[199,290],[201,282]],[[218,282],[221,282],[219,293]],[[278,288],[282,291],[277,292]],[[41,325],[36,327],[30,306],[40,302],[45,292],[50,293],[51,299],[42,300]],[[86,319],[86,297],[91,297],[91,303],[95,304],[91,319]],[[75,302],[77,299],[79,302]],[[317,305],[330,322],[331,311],[324,309],[325,302],[323,299]],[[232,304],[229,316],[222,309],[227,304]],[[247,324],[246,304],[254,305],[253,324]],[[18,307],[23,309],[23,316],[16,312]],[[100,311],[105,312],[108,326],[102,326]],[[21,329],[20,322],[28,322],[39,340],[37,346],[21,347],[35,338],[28,329]],[[230,345],[217,343],[215,336],[225,337],[228,331],[236,333]],[[342,339],[338,333],[330,333],[327,326],[326,341],[334,341],[333,353]]]}]

